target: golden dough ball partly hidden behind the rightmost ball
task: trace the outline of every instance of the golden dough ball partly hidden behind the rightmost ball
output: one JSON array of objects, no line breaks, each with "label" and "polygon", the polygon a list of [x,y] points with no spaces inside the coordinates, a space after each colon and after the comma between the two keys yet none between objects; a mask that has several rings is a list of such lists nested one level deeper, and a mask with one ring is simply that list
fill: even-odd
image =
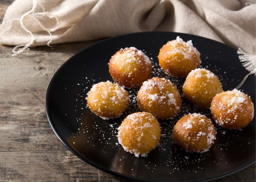
[{"label": "golden dough ball partly hidden behind the rightmost ball", "polygon": [[205,108],[210,108],[212,98],[223,92],[218,76],[204,68],[197,68],[188,74],[182,91],[190,102]]}]

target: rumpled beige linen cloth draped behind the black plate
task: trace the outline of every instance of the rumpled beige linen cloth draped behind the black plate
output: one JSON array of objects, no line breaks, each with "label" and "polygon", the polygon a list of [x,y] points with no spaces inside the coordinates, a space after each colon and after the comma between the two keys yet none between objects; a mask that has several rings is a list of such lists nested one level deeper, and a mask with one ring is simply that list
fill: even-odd
[{"label": "rumpled beige linen cloth draped behind the black plate", "polygon": [[[1,44],[31,46],[141,31],[191,33],[256,54],[255,0],[16,0],[0,27]],[[52,34],[52,36],[50,35]],[[207,45],[206,45],[207,46]]]}]

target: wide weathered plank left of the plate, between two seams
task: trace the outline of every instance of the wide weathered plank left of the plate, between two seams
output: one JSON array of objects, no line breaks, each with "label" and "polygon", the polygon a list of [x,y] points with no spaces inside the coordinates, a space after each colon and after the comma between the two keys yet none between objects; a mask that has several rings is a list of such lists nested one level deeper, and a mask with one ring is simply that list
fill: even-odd
[{"label": "wide weathered plank left of the plate, between two seams", "polygon": [[1,55],[0,151],[65,150],[49,127],[45,93],[72,54]]}]

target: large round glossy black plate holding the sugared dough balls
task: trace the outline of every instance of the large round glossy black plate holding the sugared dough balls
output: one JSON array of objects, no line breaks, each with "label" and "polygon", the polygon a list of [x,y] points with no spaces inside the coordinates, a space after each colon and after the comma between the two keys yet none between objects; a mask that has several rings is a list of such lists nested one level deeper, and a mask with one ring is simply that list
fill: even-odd
[{"label": "large round glossy black plate holding the sugared dough balls", "polygon": [[[57,137],[75,155],[90,165],[124,178],[142,181],[207,181],[240,171],[255,162],[255,119],[242,131],[217,128],[217,139],[210,151],[187,153],[172,140],[172,128],[183,114],[202,110],[182,98],[181,111],[173,120],[159,120],[162,127],[160,146],[148,157],[135,157],[117,144],[116,128],[131,113],[103,120],[86,107],[86,93],[94,83],[111,80],[108,62],[120,48],[136,47],[153,59],[152,76],[166,77],[181,90],[184,79],[174,79],[158,70],[159,49],[180,36],[192,40],[201,53],[202,67],[219,76],[223,90],[235,88],[248,71],[238,60],[234,48],[203,37],[174,32],[142,32],[106,39],[85,48],[67,60],[53,76],[46,93],[46,112]],[[241,90],[255,104],[255,76]],[[131,91],[133,96],[136,90]],[[136,108],[135,108],[136,110]]]}]

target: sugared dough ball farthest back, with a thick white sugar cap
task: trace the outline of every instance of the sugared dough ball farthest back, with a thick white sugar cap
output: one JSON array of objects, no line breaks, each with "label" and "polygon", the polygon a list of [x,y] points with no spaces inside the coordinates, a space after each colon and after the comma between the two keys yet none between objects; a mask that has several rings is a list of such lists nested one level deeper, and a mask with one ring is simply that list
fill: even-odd
[{"label": "sugared dough ball farthest back, with a thick white sugar cap", "polygon": [[185,42],[180,37],[163,45],[158,60],[167,74],[177,78],[187,76],[201,63],[200,53],[193,47],[192,41]]}]

